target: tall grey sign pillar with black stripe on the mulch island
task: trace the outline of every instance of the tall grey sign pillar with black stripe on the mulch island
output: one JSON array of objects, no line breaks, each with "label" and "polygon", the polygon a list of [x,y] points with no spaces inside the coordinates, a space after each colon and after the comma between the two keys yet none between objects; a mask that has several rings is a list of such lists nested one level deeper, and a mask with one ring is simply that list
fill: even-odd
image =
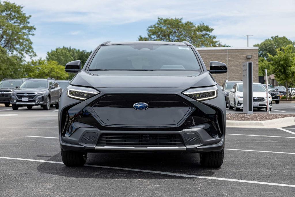
[{"label": "tall grey sign pillar with black stripe on the mulch island", "polygon": [[243,64],[243,113],[253,114],[253,62]]}]

